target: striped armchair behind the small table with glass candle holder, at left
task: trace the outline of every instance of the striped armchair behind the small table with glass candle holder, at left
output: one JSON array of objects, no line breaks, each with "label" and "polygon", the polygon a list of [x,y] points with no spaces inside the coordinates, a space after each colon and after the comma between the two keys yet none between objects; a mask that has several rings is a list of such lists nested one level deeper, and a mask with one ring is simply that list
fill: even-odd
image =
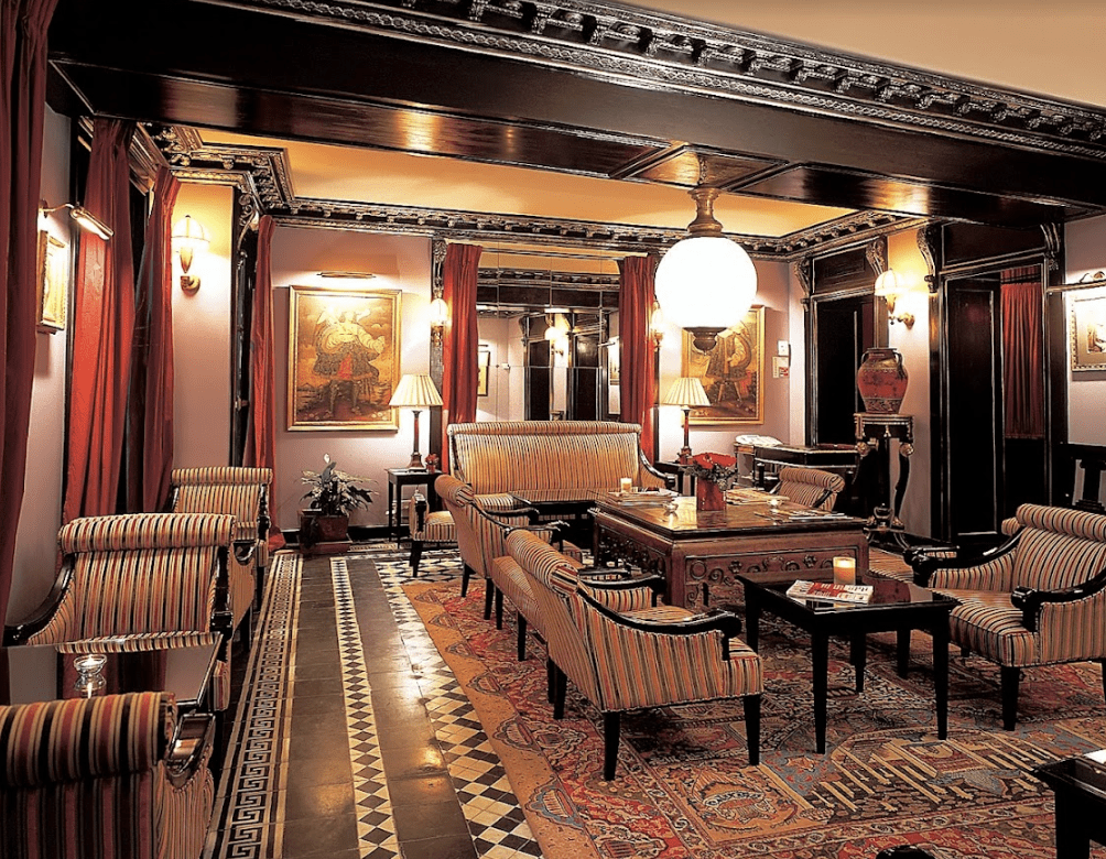
[{"label": "striped armchair behind the small table with glass candle holder, at left", "polygon": [[219,635],[222,649],[211,709],[226,710],[233,630],[227,584],[228,566],[236,565],[230,551],[233,525],[232,516],[210,513],[73,520],[58,535],[63,561],[53,589],[30,620],[6,630],[4,643]]}]

